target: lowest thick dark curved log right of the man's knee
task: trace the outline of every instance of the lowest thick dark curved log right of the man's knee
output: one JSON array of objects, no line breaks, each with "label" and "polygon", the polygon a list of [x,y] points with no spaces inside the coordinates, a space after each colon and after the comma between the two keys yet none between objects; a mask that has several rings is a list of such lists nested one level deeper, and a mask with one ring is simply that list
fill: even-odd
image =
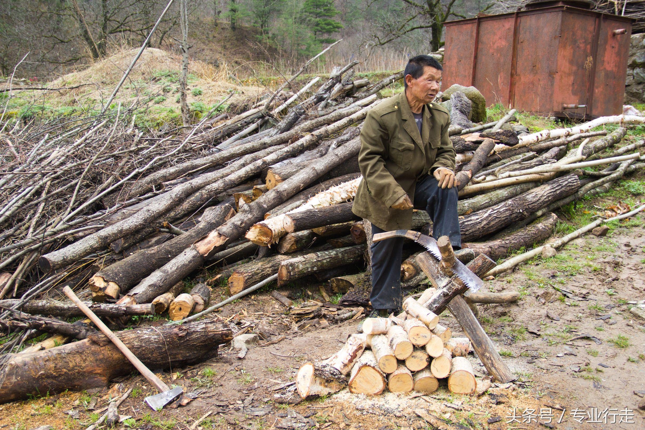
[{"label": "lowest thick dark curved log right of the man's knee", "polygon": [[508,253],[517,251],[517,249],[530,248],[533,244],[548,239],[553,234],[553,229],[558,220],[555,213],[549,212],[532,224],[501,239],[489,240],[488,242],[462,243],[461,246],[484,253],[492,260],[498,260],[506,257]]}]

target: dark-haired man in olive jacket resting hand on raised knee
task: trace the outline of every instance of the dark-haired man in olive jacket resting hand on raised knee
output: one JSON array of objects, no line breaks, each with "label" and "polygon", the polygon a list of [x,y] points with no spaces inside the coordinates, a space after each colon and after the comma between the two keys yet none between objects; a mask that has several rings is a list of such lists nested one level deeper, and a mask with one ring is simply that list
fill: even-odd
[{"label": "dark-haired man in olive jacket resting hand on raised knee", "polygon": [[[373,235],[410,230],[412,209],[424,209],[433,221],[433,237],[448,236],[457,250],[461,235],[450,116],[432,103],[442,70],[429,55],[411,58],[404,71],[405,91],[368,113],[361,130],[362,181],[353,213],[372,223]],[[371,317],[401,308],[402,247],[402,238],[372,244]]]}]

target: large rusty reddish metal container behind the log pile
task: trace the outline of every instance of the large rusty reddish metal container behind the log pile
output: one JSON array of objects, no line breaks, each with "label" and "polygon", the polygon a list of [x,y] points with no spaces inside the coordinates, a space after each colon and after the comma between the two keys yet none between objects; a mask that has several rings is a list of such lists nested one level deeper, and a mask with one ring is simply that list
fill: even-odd
[{"label": "large rusty reddish metal container behind the log pile", "polygon": [[582,7],[550,1],[446,23],[443,88],[473,85],[489,106],[540,115],[622,113],[632,20]]}]

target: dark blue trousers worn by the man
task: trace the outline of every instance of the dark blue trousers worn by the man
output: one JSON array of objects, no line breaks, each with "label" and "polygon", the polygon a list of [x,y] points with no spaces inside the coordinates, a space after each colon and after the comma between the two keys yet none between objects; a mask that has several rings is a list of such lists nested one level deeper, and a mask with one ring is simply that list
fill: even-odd
[{"label": "dark blue trousers worn by the man", "polygon": [[[453,249],[461,249],[461,232],[457,216],[457,187],[440,188],[435,177],[426,175],[417,182],[414,191],[414,208],[424,209],[432,220],[432,237],[448,236]],[[372,235],[383,230],[372,224]],[[403,238],[381,240],[372,244],[372,294],[373,309],[399,309],[401,295],[401,258]]]}]

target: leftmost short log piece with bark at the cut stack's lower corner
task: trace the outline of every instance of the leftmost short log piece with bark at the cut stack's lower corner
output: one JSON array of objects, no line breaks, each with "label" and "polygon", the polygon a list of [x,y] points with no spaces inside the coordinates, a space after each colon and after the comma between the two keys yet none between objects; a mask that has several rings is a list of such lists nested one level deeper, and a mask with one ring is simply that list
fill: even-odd
[{"label": "leftmost short log piece with bark at the cut stack's lower corner", "polygon": [[324,364],[305,363],[295,376],[295,388],[304,399],[337,393],[346,385],[346,376]]}]

